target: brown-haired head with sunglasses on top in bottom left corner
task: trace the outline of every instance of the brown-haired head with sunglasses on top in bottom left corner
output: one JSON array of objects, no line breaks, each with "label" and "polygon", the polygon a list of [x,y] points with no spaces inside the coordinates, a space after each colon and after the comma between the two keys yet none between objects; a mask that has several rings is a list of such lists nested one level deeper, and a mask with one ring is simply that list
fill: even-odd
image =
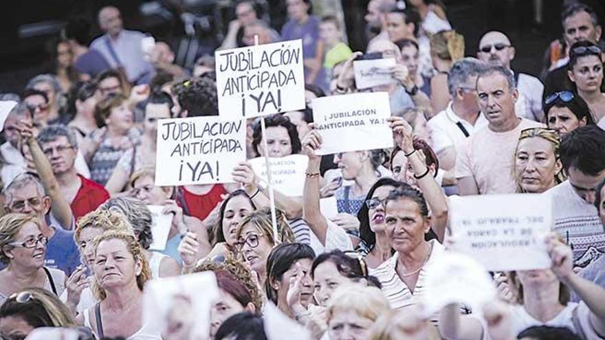
[{"label": "brown-haired head with sunglasses on top in bottom left corner", "polygon": [[0,307],[0,339],[23,340],[34,328],[76,327],[69,309],[49,291],[28,288]]}]

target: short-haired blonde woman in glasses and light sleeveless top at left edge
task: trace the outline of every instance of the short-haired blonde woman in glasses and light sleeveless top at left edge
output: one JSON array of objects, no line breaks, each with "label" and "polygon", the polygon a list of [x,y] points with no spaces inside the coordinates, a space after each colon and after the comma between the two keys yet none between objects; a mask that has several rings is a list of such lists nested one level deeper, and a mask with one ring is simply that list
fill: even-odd
[{"label": "short-haired blonde woman in glasses and light sleeveless top at left edge", "polygon": [[38,218],[7,214],[0,218],[0,261],[8,264],[0,271],[0,304],[11,294],[36,287],[61,295],[65,273],[44,267],[46,243]]}]

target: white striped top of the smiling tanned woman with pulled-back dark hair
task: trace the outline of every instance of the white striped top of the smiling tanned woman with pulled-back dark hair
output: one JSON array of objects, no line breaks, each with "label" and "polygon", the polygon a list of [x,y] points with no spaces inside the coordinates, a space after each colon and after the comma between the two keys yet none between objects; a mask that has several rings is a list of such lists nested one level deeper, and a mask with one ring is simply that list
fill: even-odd
[{"label": "white striped top of the smiling tanned woman with pulled-back dark hair", "polygon": [[421,302],[425,291],[425,269],[432,262],[439,261],[445,253],[445,248],[437,240],[430,240],[428,243],[431,246],[430,256],[426,264],[420,269],[414,293],[410,291],[410,288],[408,288],[406,283],[401,280],[401,277],[397,275],[397,271],[395,271],[399,253],[395,253],[390,260],[383,262],[376,269],[370,269],[370,275],[375,276],[382,284],[382,293],[388,300],[391,308],[402,309]]}]

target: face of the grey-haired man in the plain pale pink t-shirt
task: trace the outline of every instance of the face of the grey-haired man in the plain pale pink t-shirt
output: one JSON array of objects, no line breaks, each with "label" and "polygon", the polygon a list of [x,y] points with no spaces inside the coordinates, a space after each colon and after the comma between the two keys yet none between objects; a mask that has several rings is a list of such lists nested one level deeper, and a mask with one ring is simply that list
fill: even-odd
[{"label": "face of the grey-haired man in the plain pale pink t-shirt", "polygon": [[490,125],[499,126],[515,119],[517,90],[509,89],[508,82],[500,73],[492,73],[477,80],[479,108]]}]

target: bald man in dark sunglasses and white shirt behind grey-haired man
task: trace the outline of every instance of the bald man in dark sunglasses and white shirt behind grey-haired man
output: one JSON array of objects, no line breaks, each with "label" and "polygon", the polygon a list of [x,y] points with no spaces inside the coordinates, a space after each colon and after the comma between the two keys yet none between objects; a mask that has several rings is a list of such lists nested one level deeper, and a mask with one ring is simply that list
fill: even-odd
[{"label": "bald man in dark sunglasses and white shirt behind grey-haired man", "polygon": [[479,41],[477,58],[486,63],[500,65],[515,75],[519,98],[515,103],[515,112],[519,117],[543,122],[542,93],[544,85],[534,76],[517,73],[511,69],[511,60],[515,58],[515,47],[506,34],[498,31],[487,32]]}]

